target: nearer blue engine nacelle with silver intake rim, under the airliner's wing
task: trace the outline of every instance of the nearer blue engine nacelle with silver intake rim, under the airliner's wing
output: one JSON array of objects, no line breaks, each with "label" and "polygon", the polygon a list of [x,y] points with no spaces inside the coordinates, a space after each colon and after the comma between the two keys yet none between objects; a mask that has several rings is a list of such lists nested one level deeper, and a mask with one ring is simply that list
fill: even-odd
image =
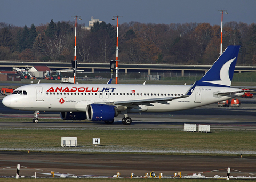
[{"label": "nearer blue engine nacelle with silver intake rim, under the airliner's wing", "polygon": [[115,106],[105,104],[89,104],[86,109],[87,119],[89,121],[114,121],[118,115]]}]

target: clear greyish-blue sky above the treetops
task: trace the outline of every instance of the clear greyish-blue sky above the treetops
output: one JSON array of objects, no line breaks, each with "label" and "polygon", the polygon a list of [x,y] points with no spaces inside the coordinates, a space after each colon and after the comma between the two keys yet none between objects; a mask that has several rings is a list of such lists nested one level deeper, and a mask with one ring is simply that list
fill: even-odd
[{"label": "clear greyish-blue sky above the treetops", "polygon": [[190,23],[207,22],[212,25],[236,21],[247,24],[256,23],[255,0],[0,0],[0,22],[14,26],[30,27],[46,24],[53,19],[58,21],[73,21],[72,16],[81,16],[78,23],[100,19],[106,23],[114,15],[123,16],[119,23],[138,21],[141,23]]}]

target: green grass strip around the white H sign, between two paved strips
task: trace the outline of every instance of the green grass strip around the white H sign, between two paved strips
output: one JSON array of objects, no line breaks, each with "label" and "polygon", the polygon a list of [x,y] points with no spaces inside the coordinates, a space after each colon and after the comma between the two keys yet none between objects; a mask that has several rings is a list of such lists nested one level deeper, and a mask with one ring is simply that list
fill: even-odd
[{"label": "green grass strip around the white H sign, between two paved strips", "polygon": [[[49,148],[58,151],[62,136],[76,136],[77,150],[93,148],[92,139],[100,138],[100,147],[120,149],[121,152],[152,151],[206,151],[217,155],[218,151],[256,151],[256,133],[251,130],[212,130],[211,133],[187,133],[181,129],[109,129],[109,128],[0,128],[1,148],[39,150]],[[95,148],[95,147],[94,147]],[[67,150],[68,151],[68,150]],[[159,152],[157,152],[159,151]],[[185,152],[186,153],[186,152]],[[235,153],[236,154],[236,153]],[[237,153],[237,155],[240,155]],[[255,156],[255,154],[250,154]]]}]

